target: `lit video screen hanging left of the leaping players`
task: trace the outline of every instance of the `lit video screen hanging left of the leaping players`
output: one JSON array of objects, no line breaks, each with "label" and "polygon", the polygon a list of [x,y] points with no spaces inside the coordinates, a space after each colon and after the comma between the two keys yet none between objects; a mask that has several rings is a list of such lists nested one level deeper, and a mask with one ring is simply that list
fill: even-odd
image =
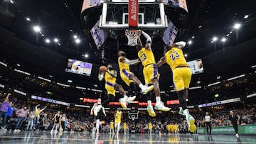
[{"label": "lit video screen hanging left of the leaping players", "polygon": [[68,59],[68,67],[65,69],[65,71],[90,76],[92,72],[92,64],[82,62],[80,60]]}]

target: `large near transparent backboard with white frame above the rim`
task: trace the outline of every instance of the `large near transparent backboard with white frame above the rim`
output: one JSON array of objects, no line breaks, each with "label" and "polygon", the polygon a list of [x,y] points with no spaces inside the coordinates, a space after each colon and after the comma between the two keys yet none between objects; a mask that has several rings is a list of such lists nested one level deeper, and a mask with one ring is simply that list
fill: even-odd
[{"label": "large near transparent backboard with white frame above the rim", "polygon": [[[132,4],[130,4],[132,1]],[[154,0],[112,0],[102,6],[100,28],[126,29],[129,26],[129,13],[137,13],[134,28],[167,28],[168,21],[164,11],[164,3]],[[138,4],[137,4],[138,3]],[[137,6],[136,6],[137,4]],[[134,10],[134,11],[133,11]],[[132,11],[132,12],[131,12]]]}]

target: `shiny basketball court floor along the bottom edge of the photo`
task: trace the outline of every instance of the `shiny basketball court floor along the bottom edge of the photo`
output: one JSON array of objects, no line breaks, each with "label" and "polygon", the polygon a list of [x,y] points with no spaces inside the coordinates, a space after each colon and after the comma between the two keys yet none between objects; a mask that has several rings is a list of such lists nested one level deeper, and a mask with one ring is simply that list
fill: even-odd
[{"label": "shiny basketball court floor along the bottom edge of the photo", "polygon": [[201,134],[140,134],[129,133],[123,135],[110,135],[110,133],[100,133],[99,136],[92,133],[50,133],[43,131],[6,131],[0,132],[0,143],[86,143],[86,144],[123,144],[123,143],[256,143],[255,135],[201,135]]}]

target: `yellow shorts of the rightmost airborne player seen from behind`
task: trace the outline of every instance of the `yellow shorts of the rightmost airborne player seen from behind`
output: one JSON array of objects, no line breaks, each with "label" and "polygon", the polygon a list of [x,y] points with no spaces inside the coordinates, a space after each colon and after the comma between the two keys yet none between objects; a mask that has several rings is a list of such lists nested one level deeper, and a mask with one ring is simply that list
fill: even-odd
[{"label": "yellow shorts of the rightmost airborne player seen from behind", "polygon": [[188,67],[177,67],[173,70],[173,80],[176,92],[189,87],[191,82],[191,70]]}]

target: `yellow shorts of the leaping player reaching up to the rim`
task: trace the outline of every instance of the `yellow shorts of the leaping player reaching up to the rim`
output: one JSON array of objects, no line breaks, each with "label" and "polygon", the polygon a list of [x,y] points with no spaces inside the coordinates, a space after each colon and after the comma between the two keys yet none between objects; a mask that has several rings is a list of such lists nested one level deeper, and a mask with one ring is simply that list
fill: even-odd
[{"label": "yellow shorts of the leaping player reaching up to the rim", "polygon": [[145,84],[151,84],[151,79],[159,77],[159,73],[155,64],[146,65],[143,69]]}]

